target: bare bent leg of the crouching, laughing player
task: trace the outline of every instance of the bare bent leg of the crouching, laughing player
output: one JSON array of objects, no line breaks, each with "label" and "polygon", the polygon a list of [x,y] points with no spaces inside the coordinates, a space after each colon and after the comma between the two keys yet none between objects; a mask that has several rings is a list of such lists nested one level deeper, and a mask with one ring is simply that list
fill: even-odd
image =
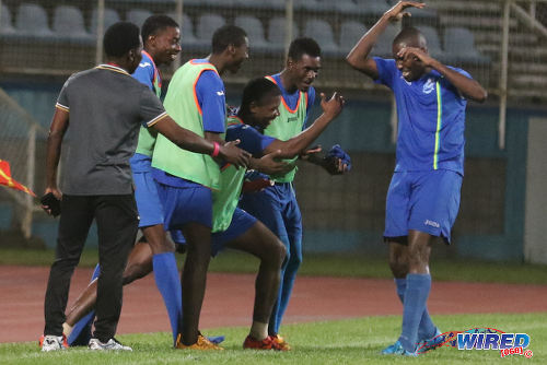
[{"label": "bare bent leg of the crouching, laughing player", "polygon": [[279,238],[260,222],[256,222],[226,246],[260,259],[255,281],[253,327],[249,334],[255,340],[264,340],[268,337],[268,322],[277,299],[286,248]]}]

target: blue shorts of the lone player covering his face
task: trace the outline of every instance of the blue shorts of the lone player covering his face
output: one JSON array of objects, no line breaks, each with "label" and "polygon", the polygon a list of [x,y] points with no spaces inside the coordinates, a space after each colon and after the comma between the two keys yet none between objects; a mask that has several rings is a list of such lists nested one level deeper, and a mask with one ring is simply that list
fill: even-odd
[{"label": "blue shorts of the lone player covering his face", "polygon": [[395,173],[386,199],[384,237],[408,236],[419,231],[450,244],[459,209],[462,175],[437,169]]}]

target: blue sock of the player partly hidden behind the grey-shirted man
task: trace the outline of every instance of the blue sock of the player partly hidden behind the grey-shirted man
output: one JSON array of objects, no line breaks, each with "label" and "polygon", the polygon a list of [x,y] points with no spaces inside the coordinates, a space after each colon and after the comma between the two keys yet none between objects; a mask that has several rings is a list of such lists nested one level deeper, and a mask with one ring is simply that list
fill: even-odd
[{"label": "blue sock of the player partly hidden behind the grey-shirted man", "polygon": [[163,296],[163,302],[170,316],[171,329],[173,330],[173,343],[178,334],[178,320],[183,311],[183,298],[181,278],[176,267],[175,254],[162,252],[152,258],[154,267],[155,285]]}]

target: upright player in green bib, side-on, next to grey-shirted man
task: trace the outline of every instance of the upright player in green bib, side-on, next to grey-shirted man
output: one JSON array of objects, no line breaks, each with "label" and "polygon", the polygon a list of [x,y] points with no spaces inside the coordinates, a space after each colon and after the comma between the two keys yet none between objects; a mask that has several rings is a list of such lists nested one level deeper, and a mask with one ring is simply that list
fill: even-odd
[{"label": "upright player in green bib, side-on, next to grey-shirted man", "polygon": [[[167,113],[178,125],[205,137],[217,148],[223,145],[221,134],[225,132],[226,106],[220,75],[226,71],[237,72],[248,58],[247,52],[245,31],[233,25],[217,30],[211,55],[186,62],[173,75],[164,101]],[[211,156],[183,152],[159,136],[152,156],[152,174],[159,182],[164,224],[168,229],[182,229],[187,242],[178,349],[218,349],[198,331],[211,256],[211,190],[219,188],[216,152]]]}]

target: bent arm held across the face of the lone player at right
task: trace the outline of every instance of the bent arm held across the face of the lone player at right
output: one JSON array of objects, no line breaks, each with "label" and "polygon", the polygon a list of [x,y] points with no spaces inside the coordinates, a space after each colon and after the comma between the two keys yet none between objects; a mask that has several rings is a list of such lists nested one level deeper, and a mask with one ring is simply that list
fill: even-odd
[{"label": "bent arm held across the face of the lone player at right", "polygon": [[405,47],[400,49],[397,57],[400,57],[404,60],[409,57],[417,57],[426,67],[430,67],[445,76],[446,80],[449,80],[466,98],[482,103],[488,96],[486,90],[476,80],[469,79],[465,74],[454,71],[419,48]]}]

